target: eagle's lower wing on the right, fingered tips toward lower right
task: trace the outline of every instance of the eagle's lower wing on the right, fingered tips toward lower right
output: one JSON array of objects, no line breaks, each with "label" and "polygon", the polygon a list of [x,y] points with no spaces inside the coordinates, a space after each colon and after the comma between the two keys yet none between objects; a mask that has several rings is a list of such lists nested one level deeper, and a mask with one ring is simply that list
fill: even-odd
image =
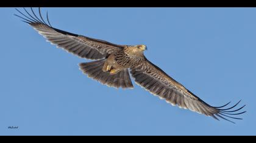
[{"label": "eagle's lower wing on the right, fingered tips toward lower right", "polygon": [[[131,68],[130,73],[133,78],[135,78],[135,82],[141,85],[141,87],[144,87],[153,95],[157,95],[159,98],[165,99],[166,102],[169,102],[172,105],[178,105],[180,108],[188,108],[191,111],[196,111],[197,113],[201,113],[206,116],[212,116],[215,119],[218,119],[217,117],[226,119],[223,116],[233,119],[241,119],[228,115],[240,115],[246,112],[230,113],[238,111],[244,107],[230,111],[230,109],[235,107],[239,102],[233,107],[226,109],[222,109],[222,107],[227,104],[221,107],[212,107],[211,105],[208,105],[202,101],[202,99],[191,93],[191,91],[187,90],[187,88],[183,87],[183,85],[179,84],[179,82],[168,76],[163,70],[148,61],[148,59],[138,65],[138,67]],[[230,121],[228,119],[226,120]]]}]

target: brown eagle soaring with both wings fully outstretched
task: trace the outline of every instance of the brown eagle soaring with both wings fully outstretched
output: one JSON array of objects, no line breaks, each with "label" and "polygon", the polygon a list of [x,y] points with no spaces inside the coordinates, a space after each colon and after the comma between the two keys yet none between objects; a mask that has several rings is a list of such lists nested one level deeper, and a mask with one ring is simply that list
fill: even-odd
[{"label": "brown eagle soaring with both wings fully outstretched", "polygon": [[80,58],[95,60],[80,63],[80,70],[89,78],[108,87],[133,88],[131,75],[138,85],[152,95],[165,99],[169,104],[196,111],[205,116],[212,116],[217,120],[221,118],[235,123],[229,118],[242,119],[235,115],[246,112],[240,111],[245,105],[233,109],[241,100],[229,108],[226,106],[230,102],[219,107],[213,107],[204,102],[157,65],[152,64],[144,55],[144,50],[147,50],[146,45],[119,45],[65,32],[52,27],[48,13],[46,13],[47,22],[44,21],[40,8],[38,8],[37,15],[33,8],[30,8],[30,13],[26,8],[24,12],[15,9],[20,13],[15,16],[33,27],[47,41]]}]

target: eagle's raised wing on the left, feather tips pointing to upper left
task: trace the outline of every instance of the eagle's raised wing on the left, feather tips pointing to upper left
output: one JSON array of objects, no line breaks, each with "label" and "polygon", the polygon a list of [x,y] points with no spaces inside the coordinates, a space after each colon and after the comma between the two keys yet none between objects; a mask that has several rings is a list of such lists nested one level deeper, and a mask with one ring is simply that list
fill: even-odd
[{"label": "eagle's raised wing on the left, feather tips pointing to upper left", "polygon": [[[24,15],[18,9],[16,10],[21,14],[21,16],[15,16],[24,19],[24,22],[35,28],[35,30],[37,30],[40,35],[43,35],[44,38],[48,39],[49,42],[63,48],[70,53],[73,53],[74,55],[79,56],[80,58],[102,59],[105,58],[109,53],[118,50],[118,48],[123,48],[123,45],[116,45],[100,39],[88,38],[86,36],[76,35],[74,33],[69,33],[54,28],[49,22],[48,14],[48,24],[46,24],[41,16],[40,8],[38,8],[40,18],[35,15],[35,12],[32,8],[31,14],[24,8],[27,15]],[[34,16],[32,16],[32,14]]]}]

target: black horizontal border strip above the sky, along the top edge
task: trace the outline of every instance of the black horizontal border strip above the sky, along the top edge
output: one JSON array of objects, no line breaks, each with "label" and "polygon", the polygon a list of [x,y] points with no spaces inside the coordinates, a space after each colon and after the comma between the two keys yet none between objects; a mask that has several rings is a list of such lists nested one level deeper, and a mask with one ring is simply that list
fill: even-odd
[{"label": "black horizontal border strip above the sky, along the top edge", "polygon": [[256,7],[254,1],[195,0],[11,0],[2,7]]}]

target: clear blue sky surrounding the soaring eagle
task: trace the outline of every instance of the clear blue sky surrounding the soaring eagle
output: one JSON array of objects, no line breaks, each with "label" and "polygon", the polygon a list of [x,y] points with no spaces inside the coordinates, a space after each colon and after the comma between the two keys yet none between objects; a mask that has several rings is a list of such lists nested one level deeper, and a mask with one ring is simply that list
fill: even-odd
[{"label": "clear blue sky surrounding the soaring eagle", "polygon": [[87,59],[0,8],[0,135],[256,135],[256,8],[41,10],[68,32],[147,45],[151,62],[205,102],[242,99],[247,113],[232,124],[173,107],[134,81],[133,90],[109,88],[82,74]]}]

